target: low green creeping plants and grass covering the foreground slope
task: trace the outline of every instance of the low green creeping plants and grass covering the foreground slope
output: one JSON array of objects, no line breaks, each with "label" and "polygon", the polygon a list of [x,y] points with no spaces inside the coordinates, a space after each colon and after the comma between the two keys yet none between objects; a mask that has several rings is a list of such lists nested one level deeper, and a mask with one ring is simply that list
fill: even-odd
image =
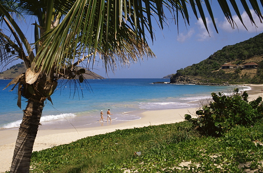
[{"label": "low green creeping plants and grass covering the foreground slope", "polygon": [[[201,136],[191,123],[116,130],[35,151],[31,172],[263,171],[262,120],[221,137]],[[134,154],[134,152],[141,154]]]}]

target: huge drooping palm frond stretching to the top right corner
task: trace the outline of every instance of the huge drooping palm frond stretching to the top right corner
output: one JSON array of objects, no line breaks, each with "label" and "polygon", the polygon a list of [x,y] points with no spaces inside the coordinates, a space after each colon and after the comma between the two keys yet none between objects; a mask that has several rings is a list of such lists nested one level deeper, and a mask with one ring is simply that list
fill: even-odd
[{"label": "huge drooping palm frond stretching to the top right corner", "polygon": [[[257,2],[249,1],[258,17],[262,18]],[[150,33],[153,40],[152,17],[156,17],[160,28],[163,28],[166,20],[164,8],[168,8],[177,24],[179,15],[183,17],[185,24],[189,24],[189,9],[194,12],[197,19],[199,12],[208,31],[206,9],[218,32],[210,3],[208,0],[204,2],[205,4],[201,0],[189,0],[187,5],[188,2],[185,0],[76,0],[63,21],[42,36],[42,39],[45,39],[39,48],[37,67],[44,71],[50,71],[53,66],[70,68],[75,58],[80,59],[83,53],[98,53],[108,68],[116,67],[117,62],[126,65],[138,61],[141,56],[152,57],[153,53],[149,51],[146,35]],[[218,2],[223,14],[234,28],[235,22],[228,2],[226,0]],[[251,22],[254,23],[246,1],[241,2]],[[235,1],[230,0],[230,4],[241,18]],[[135,53],[135,50],[143,53]],[[95,57],[94,55],[93,62]]]}]

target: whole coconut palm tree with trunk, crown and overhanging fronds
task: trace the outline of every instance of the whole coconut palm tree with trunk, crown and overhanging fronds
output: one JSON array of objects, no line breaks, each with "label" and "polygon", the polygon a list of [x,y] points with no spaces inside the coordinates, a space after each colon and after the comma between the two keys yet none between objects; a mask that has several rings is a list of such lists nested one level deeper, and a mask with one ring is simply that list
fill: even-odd
[{"label": "whole coconut palm tree with trunk, crown and overhanging fronds", "polygon": [[[218,2],[234,28],[229,4],[225,0]],[[241,2],[255,24],[246,1]],[[242,22],[236,2],[230,0],[230,3]],[[250,0],[250,3],[263,19],[257,1]],[[29,172],[44,102],[46,99],[52,102],[50,96],[60,77],[82,83],[86,70],[78,66],[82,61],[93,65],[98,56],[106,71],[114,70],[118,64],[125,66],[141,58],[154,57],[146,34],[149,33],[153,41],[153,18],[162,29],[166,21],[164,11],[173,15],[176,22],[181,15],[188,24],[189,9],[197,19],[199,13],[208,31],[204,4],[217,31],[209,0],[204,3],[201,0],[0,0],[0,19],[9,30],[7,34],[4,29],[0,31],[1,63],[20,58],[27,69],[8,84],[18,85],[20,108],[21,97],[28,102],[23,110],[10,172]],[[19,26],[21,19],[28,17],[35,19],[33,43]]]}]

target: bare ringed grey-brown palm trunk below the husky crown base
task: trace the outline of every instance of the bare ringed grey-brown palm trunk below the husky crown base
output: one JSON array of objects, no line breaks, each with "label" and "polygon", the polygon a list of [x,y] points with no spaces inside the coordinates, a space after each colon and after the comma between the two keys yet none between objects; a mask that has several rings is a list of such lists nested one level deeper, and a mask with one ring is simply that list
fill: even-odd
[{"label": "bare ringed grey-brown palm trunk below the husky crown base", "polygon": [[29,172],[30,159],[45,99],[28,99],[14,149],[11,173]]}]

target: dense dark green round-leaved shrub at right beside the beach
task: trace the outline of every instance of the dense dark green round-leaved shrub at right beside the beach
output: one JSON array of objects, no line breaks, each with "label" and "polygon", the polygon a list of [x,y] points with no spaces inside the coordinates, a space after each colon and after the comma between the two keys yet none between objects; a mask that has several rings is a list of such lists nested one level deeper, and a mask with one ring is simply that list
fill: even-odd
[{"label": "dense dark green round-leaved shrub at right beside the beach", "polygon": [[185,119],[206,135],[221,135],[236,125],[253,125],[262,118],[262,97],[248,102],[246,91],[241,95],[238,88],[232,96],[222,95],[220,92],[211,93],[213,101],[196,111],[197,118],[185,114]]}]

